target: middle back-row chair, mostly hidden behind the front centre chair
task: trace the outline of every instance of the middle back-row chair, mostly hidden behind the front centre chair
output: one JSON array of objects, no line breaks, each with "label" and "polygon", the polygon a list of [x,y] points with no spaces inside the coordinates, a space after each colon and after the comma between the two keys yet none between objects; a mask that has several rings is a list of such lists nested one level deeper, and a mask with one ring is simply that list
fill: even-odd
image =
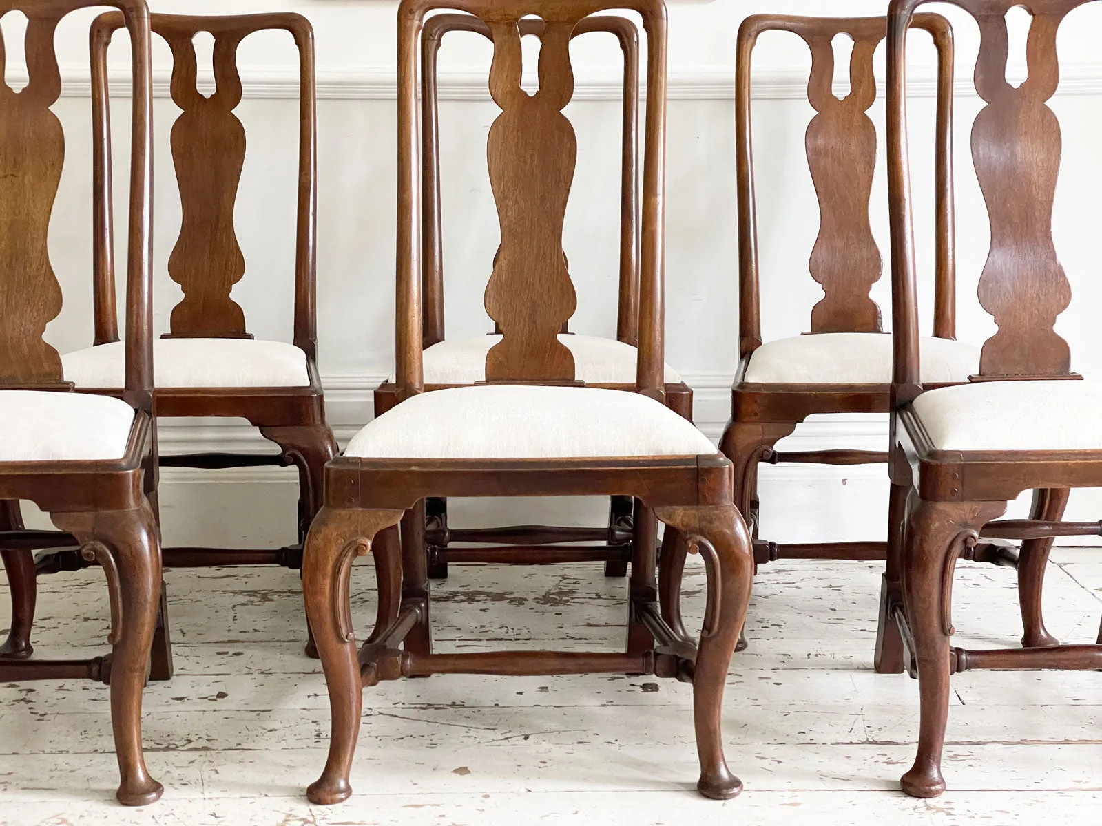
[{"label": "middle back-row chair, mostly hidden behind the front centre chair", "polygon": [[[542,37],[544,22],[536,18],[519,23],[521,36]],[[486,379],[486,354],[500,340],[500,329],[490,335],[444,337],[443,241],[440,197],[440,133],[437,112],[436,57],[449,32],[472,32],[490,39],[489,26],[471,14],[443,13],[429,17],[421,33],[421,215],[422,348],[425,390],[471,385]],[[639,327],[639,34],[635,23],[623,17],[597,15],[582,20],[572,36],[604,32],[616,37],[624,54],[624,87],[620,151],[619,287],[616,338],[571,334],[562,327],[562,340],[575,359],[579,378],[586,384],[635,388]],[[677,372],[665,367],[667,404],[692,420],[692,390]],[[375,393],[379,415],[398,403],[395,377]],[[425,503],[423,530],[408,530],[409,537],[424,534],[423,550],[407,543],[409,553],[429,555],[429,578],[447,577],[447,563],[494,562],[541,564],[554,562],[605,563],[607,576],[627,574],[633,542],[657,542],[657,522],[640,512],[638,503],[613,497],[607,528],[519,525],[510,528],[455,529],[447,523],[447,503],[431,499]],[[410,521],[421,521],[420,507]],[[497,546],[493,546],[497,543]],[[571,544],[563,544],[571,543]],[[580,545],[577,543],[591,543]],[[421,543],[419,543],[420,545]],[[490,546],[487,547],[487,544]],[[460,547],[455,547],[460,545]]]}]

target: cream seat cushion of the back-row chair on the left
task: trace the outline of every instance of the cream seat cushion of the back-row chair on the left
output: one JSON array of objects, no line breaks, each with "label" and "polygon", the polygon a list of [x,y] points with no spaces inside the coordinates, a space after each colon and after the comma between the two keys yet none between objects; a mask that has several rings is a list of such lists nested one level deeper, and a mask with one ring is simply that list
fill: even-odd
[{"label": "cream seat cushion of the back-row chair on the left", "polygon": [[[78,388],[125,384],[122,341],[62,356],[65,380]],[[306,354],[283,341],[250,338],[158,338],[153,385],[158,388],[301,388],[310,384]]]}]

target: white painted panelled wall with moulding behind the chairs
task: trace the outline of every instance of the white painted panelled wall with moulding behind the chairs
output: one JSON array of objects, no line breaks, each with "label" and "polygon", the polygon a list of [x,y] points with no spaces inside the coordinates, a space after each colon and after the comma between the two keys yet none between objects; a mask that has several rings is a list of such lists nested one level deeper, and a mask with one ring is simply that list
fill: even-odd
[{"label": "white painted panelled wall with moulding behind the chairs", "polygon": [[[152,0],[154,11],[238,13],[285,9],[314,24],[318,67],[318,325],[320,359],[331,421],[346,438],[371,411],[371,389],[393,362],[395,236],[395,9],[370,0]],[[1098,8],[1094,8],[1098,7]],[[885,0],[836,0],[833,14],[883,13]],[[951,18],[958,41],[958,258],[959,337],[981,343],[993,332],[975,298],[975,281],[987,249],[982,196],[971,171],[968,135],[981,101],[970,87],[976,30],[953,7],[928,7]],[[823,13],[812,0],[672,0],[670,19],[669,143],[667,177],[667,357],[696,391],[696,420],[719,436],[727,415],[728,388],[736,363],[736,228],[734,174],[734,40],[741,20],[754,12]],[[90,169],[87,102],[87,20],[74,15],[58,31],[65,96],[55,106],[71,153],[51,230],[51,256],[65,289],[65,308],[48,336],[63,350],[87,346],[90,315]],[[1102,6],[1074,12],[1059,48],[1063,80],[1052,108],[1065,126],[1063,175],[1057,193],[1056,240],[1076,291],[1059,332],[1072,345],[1074,369],[1102,372],[1102,350],[1092,330],[1092,311],[1102,298],[1093,278],[1099,233],[1092,226],[1100,171],[1095,156],[1095,116],[1102,97],[1102,63],[1092,34]],[[13,17],[0,25],[8,34],[7,75],[19,83],[20,29]],[[1020,21],[1012,43],[1020,46]],[[111,63],[125,72],[127,47],[119,37]],[[912,152],[920,268],[929,282],[932,263],[931,165],[933,50],[929,37],[914,40]],[[883,46],[878,72],[883,79]],[[591,35],[573,46],[577,91],[568,113],[575,122],[579,163],[568,211],[564,244],[580,293],[572,328],[612,334],[615,325],[618,76],[620,55],[607,35]],[[155,208],[155,292],[158,332],[179,298],[165,262],[180,224],[179,198],[168,132],[176,109],[166,96],[169,55],[158,44],[158,155]],[[202,55],[202,52],[201,52]],[[441,141],[447,329],[452,335],[485,332],[490,322],[482,291],[497,242],[497,224],[485,171],[486,131],[496,107],[485,94],[489,45],[476,35],[454,34],[441,51]],[[534,50],[530,56],[534,58]],[[1017,57],[1015,57],[1017,56]],[[1012,48],[1011,75],[1022,76],[1024,52]],[[208,58],[207,58],[208,59]],[[201,66],[203,58],[201,56]],[[1017,61],[1017,62],[1015,62]],[[238,112],[249,134],[239,196],[237,231],[248,270],[235,289],[258,336],[290,339],[293,253],[293,186],[296,118],[296,57],[289,35],[264,33],[241,46],[246,99]],[[818,232],[818,206],[803,156],[803,131],[811,117],[804,99],[807,48],[793,35],[766,34],[756,52],[758,72],[754,117],[758,171],[758,219],[763,264],[763,320],[767,337],[806,328],[819,287],[807,272]],[[1016,74],[1015,74],[1016,73]],[[127,117],[125,95],[115,117]],[[883,100],[873,109],[883,123]],[[121,134],[121,130],[117,134]],[[120,140],[117,138],[117,140]],[[125,192],[126,148],[117,146],[117,193]],[[883,157],[874,187],[873,227],[887,249]],[[121,239],[120,239],[121,240]],[[926,285],[927,306],[931,289]],[[888,285],[874,295],[887,312]],[[927,316],[929,313],[927,313]],[[801,447],[846,444],[879,448],[883,417],[847,417],[809,423],[792,439]],[[165,449],[207,447],[263,449],[247,427],[234,423],[162,424]],[[231,487],[227,487],[231,486]],[[882,467],[763,469],[764,533],[777,540],[876,537],[883,532],[885,481]],[[287,539],[293,526],[293,477],[287,471],[168,471],[162,501],[169,539],[241,544]],[[1095,500],[1102,503],[1102,500]],[[565,519],[597,520],[597,502],[560,502]],[[1088,497],[1072,511],[1089,518]],[[495,509],[495,512],[497,509]],[[799,514],[799,519],[792,519]],[[496,518],[496,517],[495,517]],[[473,522],[490,519],[484,506]]]}]

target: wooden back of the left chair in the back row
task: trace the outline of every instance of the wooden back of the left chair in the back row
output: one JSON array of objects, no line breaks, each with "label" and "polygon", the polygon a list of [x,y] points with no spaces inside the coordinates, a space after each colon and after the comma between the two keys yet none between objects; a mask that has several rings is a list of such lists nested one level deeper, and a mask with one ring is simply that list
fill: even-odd
[{"label": "wooden back of the left chair in the back row", "polygon": [[[245,127],[234,113],[241,101],[237,48],[253,32],[283,30],[299,51],[299,171],[295,241],[294,344],[316,359],[315,311],[317,112],[313,29],[301,14],[274,12],[240,15],[153,14],[152,29],[172,50],[172,99],[182,111],[172,128],[182,220],[169,258],[169,276],[184,297],[172,309],[165,337],[251,338],[245,311],[231,297],[245,275],[245,256],[234,229],[237,191],[245,163]],[[91,59],[96,128],[110,143],[107,97],[107,48],[122,25],[118,13],[101,14],[93,24]],[[195,35],[214,36],[216,90],[209,97],[196,85]],[[97,232],[111,236],[110,153],[96,154],[97,178],[105,182],[96,202]],[[110,247],[95,272],[95,344],[118,340],[115,275]]]}]

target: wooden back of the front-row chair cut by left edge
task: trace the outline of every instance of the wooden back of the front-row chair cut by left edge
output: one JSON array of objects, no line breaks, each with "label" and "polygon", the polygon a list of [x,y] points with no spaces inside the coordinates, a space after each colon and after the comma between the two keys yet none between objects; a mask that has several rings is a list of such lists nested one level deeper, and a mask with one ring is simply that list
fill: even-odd
[{"label": "wooden back of the front-row chair cut by left edge", "polygon": [[[43,335],[62,309],[61,285],[50,263],[47,236],[65,161],[62,123],[50,107],[62,81],[54,34],[72,11],[114,6],[131,40],[133,107],[131,115],[129,229],[127,246],[127,337],[123,399],[136,410],[152,411],[152,76],[150,15],[144,0],[0,0],[0,17],[21,11],[28,18],[24,54],[28,83],[20,91],[0,81],[0,387],[72,389],[61,356]],[[0,32],[0,78],[3,72]],[[102,106],[94,91],[94,107]],[[102,135],[94,134],[94,155],[106,154]],[[104,197],[98,174],[93,191]],[[110,238],[94,237],[94,260],[109,256]]]}]

